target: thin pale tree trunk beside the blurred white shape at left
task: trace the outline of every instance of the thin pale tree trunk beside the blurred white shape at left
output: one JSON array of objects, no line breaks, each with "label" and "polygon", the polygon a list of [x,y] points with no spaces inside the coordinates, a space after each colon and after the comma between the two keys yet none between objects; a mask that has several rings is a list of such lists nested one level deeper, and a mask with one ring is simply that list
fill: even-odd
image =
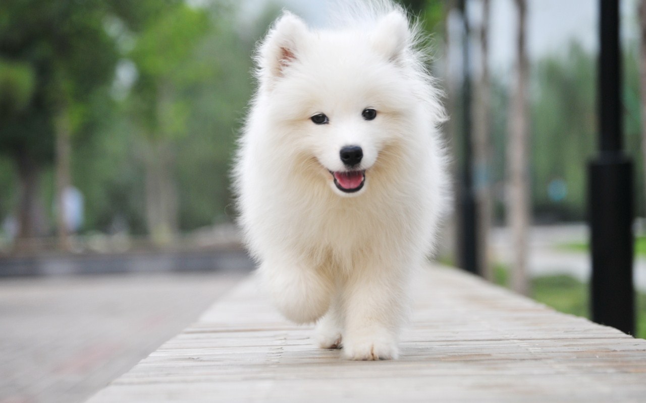
[{"label": "thin pale tree trunk beside the blurred white shape at left", "polygon": [[70,187],[70,121],[63,110],[56,121],[56,234],[61,250],[70,250],[66,190]]}]

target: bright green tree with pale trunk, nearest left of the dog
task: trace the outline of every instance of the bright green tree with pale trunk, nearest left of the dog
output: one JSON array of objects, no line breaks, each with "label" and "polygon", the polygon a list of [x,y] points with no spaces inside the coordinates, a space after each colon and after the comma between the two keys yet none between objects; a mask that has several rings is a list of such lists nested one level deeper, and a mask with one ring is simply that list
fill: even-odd
[{"label": "bright green tree with pale trunk, nearest left of the dog", "polygon": [[143,140],[147,228],[160,242],[178,230],[176,144],[187,135],[191,119],[186,95],[209,71],[193,55],[210,28],[204,9],[178,3],[149,21],[129,53],[139,74],[129,103]]}]

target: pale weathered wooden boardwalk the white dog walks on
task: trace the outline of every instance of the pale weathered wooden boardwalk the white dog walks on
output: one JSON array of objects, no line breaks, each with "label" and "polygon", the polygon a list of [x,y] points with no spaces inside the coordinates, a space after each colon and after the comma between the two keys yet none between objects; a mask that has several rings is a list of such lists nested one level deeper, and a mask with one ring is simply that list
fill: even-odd
[{"label": "pale weathered wooden boardwalk the white dog walks on", "polygon": [[646,402],[646,340],[457,270],[414,299],[401,359],[349,362],[248,279],[89,402]]}]

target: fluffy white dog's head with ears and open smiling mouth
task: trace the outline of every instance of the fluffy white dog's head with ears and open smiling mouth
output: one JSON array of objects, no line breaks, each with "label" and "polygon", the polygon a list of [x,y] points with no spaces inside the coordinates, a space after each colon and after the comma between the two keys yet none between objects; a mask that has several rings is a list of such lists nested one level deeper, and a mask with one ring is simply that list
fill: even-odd
[{"label": "fluffy white dog's head with ears and open smiling mouth", "polygon": [[408,22],[397,12],[368,32],[311,32],[285,14],[261,49],[268,119],[289,144],[285,157],[318,170],[338,195],[365,192],[375,164],[404,135],[415,108],[402,77],[407,42]]}]

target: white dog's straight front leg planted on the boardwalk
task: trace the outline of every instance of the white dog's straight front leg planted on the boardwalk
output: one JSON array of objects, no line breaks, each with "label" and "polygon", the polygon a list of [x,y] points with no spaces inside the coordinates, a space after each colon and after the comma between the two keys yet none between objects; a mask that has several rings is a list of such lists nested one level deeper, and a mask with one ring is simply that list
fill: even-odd
[{"label": "white dog's straight front leg planted on the boardwalk", "polygon": [[396,359],[405,316],[405,278],[385,268],[357,270],[346,287],[344,356],[351,360]]}]

